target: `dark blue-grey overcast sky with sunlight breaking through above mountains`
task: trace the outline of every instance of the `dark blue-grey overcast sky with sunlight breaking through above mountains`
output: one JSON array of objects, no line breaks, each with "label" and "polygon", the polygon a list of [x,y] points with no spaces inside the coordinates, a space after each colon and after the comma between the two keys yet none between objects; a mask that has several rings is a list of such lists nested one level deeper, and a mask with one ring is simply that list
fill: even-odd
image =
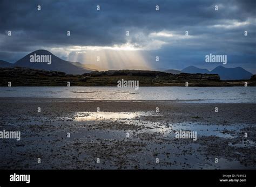
[{"label": "dark blue-grey overcast sky with sunlight breaking through above mountains", "polygon": [[225,67],[241,66],[255,74],[255,2],[1,0],[0,59],[16,62],[47,49],[82,63],[95,63],[95,55],[104,54],[112,66],[129,58],[153,68],[211,70],[220,65],[205,62],[212,53],[227,55]]}]

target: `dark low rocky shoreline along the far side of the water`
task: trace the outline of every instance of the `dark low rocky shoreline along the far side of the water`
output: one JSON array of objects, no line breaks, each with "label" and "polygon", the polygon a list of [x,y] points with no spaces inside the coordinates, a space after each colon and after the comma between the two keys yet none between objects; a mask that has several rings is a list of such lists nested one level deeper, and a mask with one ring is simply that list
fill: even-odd
[{"label": "dark low rocky shoreline along the far side of the water", "polygon": [[119,80],[139,81],[140,86],[184,87],[232,87],[255,86],[255,75],[250,80],[221,81],[217,74],[171,74],[148,70],[91,71],[83,75],[69,75],[60,71],[47,71],[24,67],[0,68],[0,86],[116,86]]}]

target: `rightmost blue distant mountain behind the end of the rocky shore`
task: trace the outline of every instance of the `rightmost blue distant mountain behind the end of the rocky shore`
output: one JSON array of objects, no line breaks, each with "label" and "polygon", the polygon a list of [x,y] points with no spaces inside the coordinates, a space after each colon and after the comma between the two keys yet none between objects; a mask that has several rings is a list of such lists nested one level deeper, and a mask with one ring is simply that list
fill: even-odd
[{"label": "rightmost blue distant mountain behind the end of the rocky shore", "polygon": [[221,80],[248,80],[253,74],[241,67],[225,68],[218,66],[211,71],[212,74],[218,74]]}]

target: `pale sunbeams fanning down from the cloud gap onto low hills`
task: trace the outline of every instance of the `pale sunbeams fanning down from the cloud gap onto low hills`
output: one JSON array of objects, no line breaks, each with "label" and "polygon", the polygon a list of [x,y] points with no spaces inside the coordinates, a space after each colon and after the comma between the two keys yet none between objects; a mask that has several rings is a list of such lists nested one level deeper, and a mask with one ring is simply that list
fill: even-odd
[{"label": "pale sunbeams fanning down from the cloud gap onto low hills", "polygon": [[93,65],[97,70],[150,70],[152,68],[145,60],[142,49],[136,47],[136,44],[126,43],[113,46],[69,46],[65,49],[55,47],[50,51],[59,56],[66,56],[68,61],[85,64],[85,68]]}]

